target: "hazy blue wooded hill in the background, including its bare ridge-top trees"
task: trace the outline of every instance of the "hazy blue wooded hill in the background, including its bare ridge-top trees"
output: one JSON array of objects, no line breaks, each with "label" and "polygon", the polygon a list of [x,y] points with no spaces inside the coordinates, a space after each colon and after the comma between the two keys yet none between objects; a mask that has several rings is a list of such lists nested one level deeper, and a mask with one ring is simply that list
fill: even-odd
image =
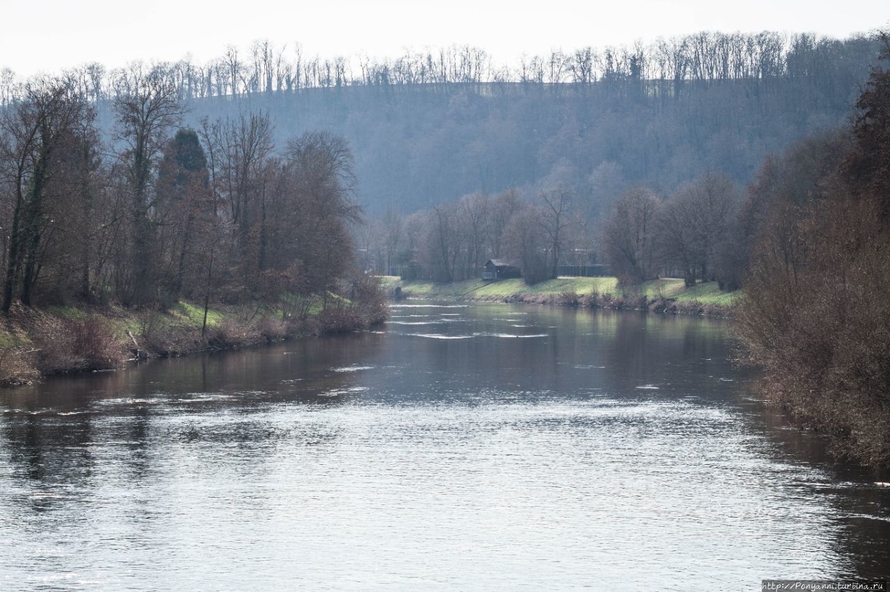
[{"label": "hazy blue wooded hill in the background, including its bare ridge-top trees", "polygon": [[[257,42],[153,69],[178,88],[190,126],[267,111],[279,145],[305,131],[342,136],[372,214],[562,183],[596,215],[630,185],[667,194],[708,169],[748,182],[766,154],[848,123],[877,53],[869,36],[699,33],[505,66],[467,46],[323,60]],[[110,137],[125,69],[65,76]],[[0,102],[11,81],[0,71]]]}]

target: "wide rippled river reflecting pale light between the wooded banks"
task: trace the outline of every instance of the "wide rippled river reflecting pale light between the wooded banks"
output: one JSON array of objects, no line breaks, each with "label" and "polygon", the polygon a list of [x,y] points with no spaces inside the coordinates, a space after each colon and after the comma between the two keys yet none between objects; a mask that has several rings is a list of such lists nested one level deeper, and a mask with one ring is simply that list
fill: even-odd
[{"label": "wide rippled river reflecting pale light between the wooded banks", "polygon": [[0,393],[0,589],[890,571],[890,479],[766,410],[727,324],[418,304],[385,332]]}]

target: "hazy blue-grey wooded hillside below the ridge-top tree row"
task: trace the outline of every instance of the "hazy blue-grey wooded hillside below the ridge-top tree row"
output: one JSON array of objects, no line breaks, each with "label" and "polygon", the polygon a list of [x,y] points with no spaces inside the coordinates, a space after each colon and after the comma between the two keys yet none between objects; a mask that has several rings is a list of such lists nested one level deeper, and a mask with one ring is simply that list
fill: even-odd
[{"label": "hazy blue-grey wooded hillside below the ridge-top tree row", "polygon": [[644,79],[630,60],[587,82],[245,92],[190,100],[188,118],[197,125],[202,116],[268,110],[281,139],[307,130],[343,136],[370,213],[562,183],[596,216],[628,185],[669,193],[708,169],[747,183],[766,154],[847,123],[876,47],[865,39],[800,46],[758,76],[661,78],[651,66]]}]

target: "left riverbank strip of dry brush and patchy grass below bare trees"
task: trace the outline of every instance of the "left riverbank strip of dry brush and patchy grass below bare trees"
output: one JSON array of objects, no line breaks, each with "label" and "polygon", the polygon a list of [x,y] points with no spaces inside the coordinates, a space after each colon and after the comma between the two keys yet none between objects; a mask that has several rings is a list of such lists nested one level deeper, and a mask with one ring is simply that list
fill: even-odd
[{"label": "left riverbank strip of dry brush and patchy grass below bare trees", "polygon": [[113,304],[16,306],[9,316],[0,316],[0,386],[61,372],[116,368],[129,359],[182,356],[356,331],[384,320],[382,301],[352,306],[337,296],[329,300],[328,308],[322,308],[320,297],[312,297],[293,312],[256,302],[217,304],[207,311],[204,332],[204,308],[188,301],[163,310]]}]

